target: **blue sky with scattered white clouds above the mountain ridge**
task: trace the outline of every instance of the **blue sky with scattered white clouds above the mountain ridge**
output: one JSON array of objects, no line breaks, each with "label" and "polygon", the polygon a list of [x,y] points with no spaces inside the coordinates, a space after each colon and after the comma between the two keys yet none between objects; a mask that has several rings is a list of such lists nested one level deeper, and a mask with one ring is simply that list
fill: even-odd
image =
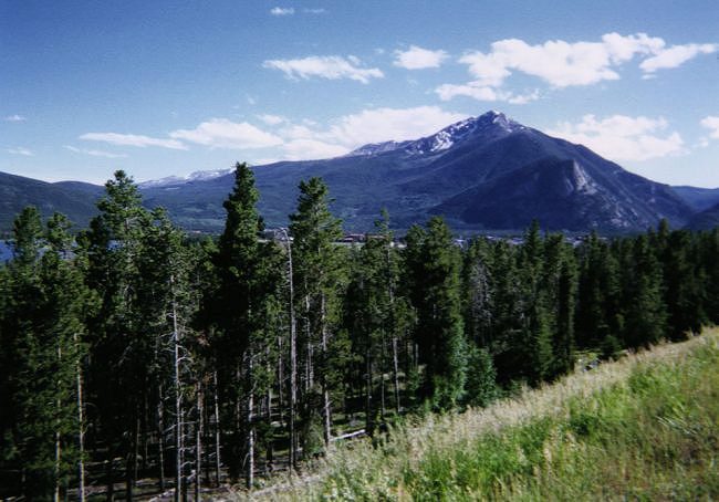
[{"label": "blue sky with scattered white clouds above the mountain ridge", "polygon": [[0,0],[0,171],[143,181],[488,109],[719,187],[719,2]]}]

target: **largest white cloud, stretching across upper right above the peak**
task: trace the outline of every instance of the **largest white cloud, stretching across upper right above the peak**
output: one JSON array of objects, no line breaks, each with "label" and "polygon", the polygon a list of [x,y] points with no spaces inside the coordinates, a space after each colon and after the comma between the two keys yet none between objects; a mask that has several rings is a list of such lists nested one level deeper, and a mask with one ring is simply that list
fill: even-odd
[{"label": "largest white cloud, stretching across upper right above the peak", "polygon": [[487,52],[471,51],[458,60],[467,65],[470,82],[444,84],[436,92],[442,100],[462,95],[511,102],[514,94],[503,87],[515,73],[536,77],[554,88],[585,86],[619,80],[622,66],[635,57],[644,57],[639,69],[650,77],[659,69],[677,67],[717,49],[716,44],[667,48],[663,39],[646,33],[607,33],[596,42],[550,40],[534,45],[520,39],[499,40]]}]

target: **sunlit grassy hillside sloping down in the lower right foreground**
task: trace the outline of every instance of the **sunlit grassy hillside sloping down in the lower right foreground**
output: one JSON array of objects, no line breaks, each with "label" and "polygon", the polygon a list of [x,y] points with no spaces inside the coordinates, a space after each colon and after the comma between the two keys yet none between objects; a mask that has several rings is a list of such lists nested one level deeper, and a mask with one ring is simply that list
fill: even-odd
[{"label": "sunlit grassy hillside sloping down in the lower right foreground", "polygon": [[[271,499],[719,496],[719,331],[338,448]],[[291,488],[293,485],[293,488]]]}]

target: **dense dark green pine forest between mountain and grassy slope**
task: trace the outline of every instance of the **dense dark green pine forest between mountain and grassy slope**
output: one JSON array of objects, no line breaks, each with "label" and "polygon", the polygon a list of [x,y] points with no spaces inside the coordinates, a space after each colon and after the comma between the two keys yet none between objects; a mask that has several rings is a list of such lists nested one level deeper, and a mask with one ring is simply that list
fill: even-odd
[{"label": "dense dark green pine forest between mountain and grassy slope", "polygon": [[[389,216],[344,247],[319,178],[262,240],[238,164],[217,240],[188,239],[117,171],[90,227],[29,207],[0,268],[0,496],[200,496],[302,469],[413,412],[486,406],[719,322],[719,230],[666,223],[573,245],[455,243],[441,218],[396,245]],[[121,488],[122,487],[122,488]],[[146,489],[146,488],[145,488]]]}]

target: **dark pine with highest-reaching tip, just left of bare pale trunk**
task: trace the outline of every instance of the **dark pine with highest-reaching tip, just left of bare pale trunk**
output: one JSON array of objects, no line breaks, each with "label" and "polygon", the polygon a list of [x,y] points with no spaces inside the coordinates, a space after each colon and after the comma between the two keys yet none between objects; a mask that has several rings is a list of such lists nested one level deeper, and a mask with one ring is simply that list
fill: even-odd
[{"label": "dark pine with highest-reaching tip, just left of bare pale trunk", "polygon": [[267,367],[274,357],[272,347],[279,328],[271,322],[277,318],[273,299],[279,294],[279,255],[274,248],[259,242],[263,226],[256,209],[258,198],[251,169],[238,163],[235,188],[223,203],[227,221],[216,258],[220,311],[219,336],[212,345],[227,402],[226,426],[233,423],[242,430],[235,430],[226,448],[232,454],[226,453],[226,458],[237,475],[247,457],[248,487],[253,482],[258,443],[256,408],[272,385],[273,374],[268,374]]}]

